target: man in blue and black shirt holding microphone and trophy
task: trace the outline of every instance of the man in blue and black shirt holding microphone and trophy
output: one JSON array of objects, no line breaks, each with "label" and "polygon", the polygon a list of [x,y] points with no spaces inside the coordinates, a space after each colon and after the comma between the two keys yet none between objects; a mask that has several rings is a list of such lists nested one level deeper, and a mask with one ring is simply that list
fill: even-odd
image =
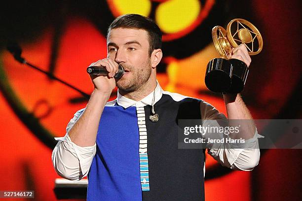
[{"label": "man in blue and black shirt holding microphone and trophy", "polygon": [[[178,148],[178,120],[226,117],[203,100],[161,89],[156,81],[161,33],[151,19],[136,14],[116,18],[107,46],[108,57],[92,65],[106,67],[109,75],[90,75],[91,98],[53,150],[56,171],[70,180],[88,175],[88,201],[204,200],[205,151]],[[232,58],[248,66],[251,62],[243,45],[232,51]],[[125,73],[115,80],[118,65]],[[107,102],[115,86],[117,99]],[[239,95],[224,99],[229,119],[252,119]],[[253,169],[260,152],[250,122],[232,137],[246,139],[252,148],[209,143],[208,153],[232,169]]]}]

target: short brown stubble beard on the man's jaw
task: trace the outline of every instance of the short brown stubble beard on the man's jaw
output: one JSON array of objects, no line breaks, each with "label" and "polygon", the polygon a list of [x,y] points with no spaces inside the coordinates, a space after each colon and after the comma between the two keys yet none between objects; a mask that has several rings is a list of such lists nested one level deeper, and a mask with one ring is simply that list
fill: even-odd
[{"label": "short brown stubble beard on the man's jaw", "polygon": [[151,75],[151,63],[150,58],[141,66],[134,67],[130,65],[122,65],[122,67],[129,70],[131,76],[125,78],[122,76],[116,81],[116,87],[124,92],[134,92],[141,88],[150,78]]}]

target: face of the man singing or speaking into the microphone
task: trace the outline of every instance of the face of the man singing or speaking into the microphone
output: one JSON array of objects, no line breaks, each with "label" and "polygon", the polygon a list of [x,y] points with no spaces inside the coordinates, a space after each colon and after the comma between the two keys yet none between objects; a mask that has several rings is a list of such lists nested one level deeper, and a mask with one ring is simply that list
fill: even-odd
[{"label": "face of the man singing or speaking into the microphone", "polygon": [[116,81],[118,89],[133,92],[144,85],[151,75],[149,37],[145,30],[112,29],[107,38],[108,57],[125,69]]}]

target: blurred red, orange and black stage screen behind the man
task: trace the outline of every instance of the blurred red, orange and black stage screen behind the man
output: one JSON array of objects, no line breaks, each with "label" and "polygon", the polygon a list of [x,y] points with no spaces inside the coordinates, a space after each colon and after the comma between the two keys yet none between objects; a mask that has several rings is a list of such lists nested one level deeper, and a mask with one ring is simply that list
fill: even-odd
[{"label": "blurred red, orange and black stage screen behind the man", "polygon": [[[301,119],[298,7],[298,0],[7,3],[0,14],[0,190],[34,190],[34,200],[56,200],[53,188],[59,176],[51,162],[53,144],[41,138],[64,136],[74,113],[87,104],[76,91],[16,62],[5,49],[7,41],[18,41],[29,63],[90,94],[93,85],[86,67],[106,58],[108,25],[121,14],[148,16],[163,33],[163,59],[157,69],[161,87],[205,100],[226,114],[222,96],[210,92],[204,83],[207,63],[220,57],[211,30],[243,18],[264,39],[263,51],[252,57],[243,100],[255,119]],[[116,90],[111,100],[115,96]],[[206,200],[296,200],[301,196],[297,176],[301,150],[261,152],[260,163],[251,172],[227,171],[207,156]]]}]

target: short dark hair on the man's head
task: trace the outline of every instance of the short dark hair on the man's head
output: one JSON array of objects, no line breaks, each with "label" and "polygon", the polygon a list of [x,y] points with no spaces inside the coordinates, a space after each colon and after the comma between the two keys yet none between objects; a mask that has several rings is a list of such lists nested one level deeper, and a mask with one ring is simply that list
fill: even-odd
[{"label": "short dark hair on the man's head", "polygon": [[156,23],[148,17],[138,14],[125,14],[117,17],[108,28],[107,38],[110,31],[117,28],[145,30],[149,36],[149,54],[151,55],[155,49],[161,49],[161,31]]}]

